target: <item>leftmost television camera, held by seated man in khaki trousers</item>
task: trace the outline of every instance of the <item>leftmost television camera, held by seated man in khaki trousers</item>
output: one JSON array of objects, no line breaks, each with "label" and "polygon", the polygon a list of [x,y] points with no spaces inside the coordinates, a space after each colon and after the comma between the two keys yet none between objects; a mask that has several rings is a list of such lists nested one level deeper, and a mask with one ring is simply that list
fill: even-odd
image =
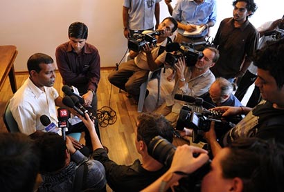
[{"label": "leftmost television camera, held by seated man in khaki trousers", "polygon": [[135,52],[139,52],[145,44],[156,46],[157,38],[155,36],[160,34],[159,30],[145,30],[142,33],[134,32],[133,37],[128,41],[128,48]]}]

